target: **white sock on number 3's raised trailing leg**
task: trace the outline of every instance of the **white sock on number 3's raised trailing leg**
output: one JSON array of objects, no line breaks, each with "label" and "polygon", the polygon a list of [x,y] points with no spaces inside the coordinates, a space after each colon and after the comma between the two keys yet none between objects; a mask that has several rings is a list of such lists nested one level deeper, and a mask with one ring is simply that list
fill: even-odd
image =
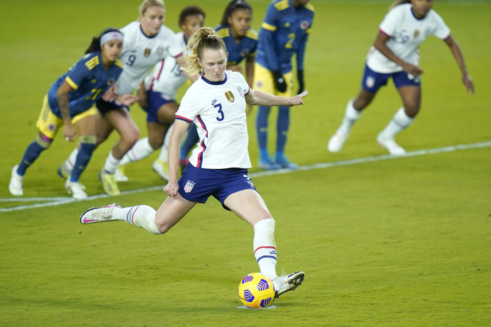
[{"label": "white sock on number 3's raised trailing leg", "polygon": [[132,225],[145,228],[155,235],[161,235],[155,225],[155,209],[148,205],[136,205],[126,208],[113,208],[113,220],[124,220]]}]

